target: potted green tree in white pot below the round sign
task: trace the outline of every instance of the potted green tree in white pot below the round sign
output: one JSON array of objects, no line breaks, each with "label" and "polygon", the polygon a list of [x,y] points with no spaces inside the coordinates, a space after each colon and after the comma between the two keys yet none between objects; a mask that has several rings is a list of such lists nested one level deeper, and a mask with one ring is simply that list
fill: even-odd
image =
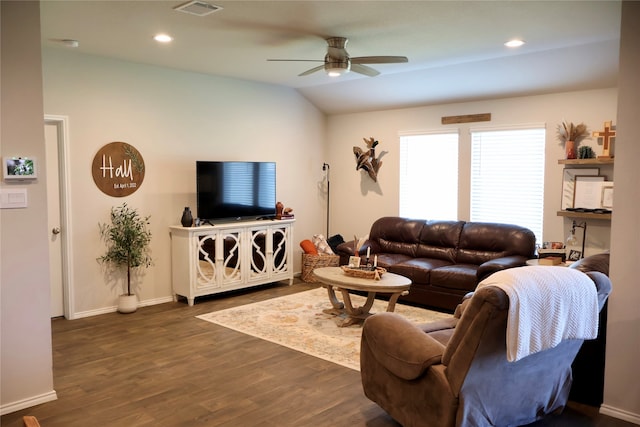
[{"label": "potted green tree in white pot below the round sign", "polygon": [[115,268],[126,268],[127,271],[127,293],[118,299],[118,311],[121,313],[132,313],[138,308],[137,297],[131,292],[132,270],[153,265],[149,218],[141,217],[135,209],[123,203],[111,208],[111,223],[98,224],[100,237],[107,246],[107,252],[98,261]]}]

